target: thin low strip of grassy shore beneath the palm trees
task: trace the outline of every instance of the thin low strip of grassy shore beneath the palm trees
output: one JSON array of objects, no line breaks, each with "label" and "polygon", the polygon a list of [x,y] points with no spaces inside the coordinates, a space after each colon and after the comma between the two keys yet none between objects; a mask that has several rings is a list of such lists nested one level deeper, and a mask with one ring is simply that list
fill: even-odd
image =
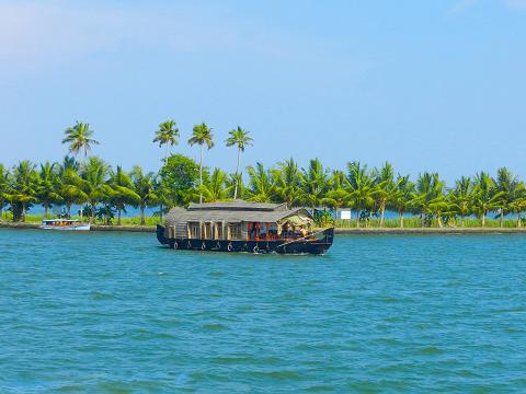
[{"label": "thin low strip of grassy shore beneath the palm trees", "polygon": [[[0,222],[4,229],[39,229],[39,223]],[[322,229],[316,229],[320,231]],[[90,231],[123,231],[155,233],[151,225],[101,225],[92,224]],[[526,228],[336,228],[336,234],[526,234]]]}]

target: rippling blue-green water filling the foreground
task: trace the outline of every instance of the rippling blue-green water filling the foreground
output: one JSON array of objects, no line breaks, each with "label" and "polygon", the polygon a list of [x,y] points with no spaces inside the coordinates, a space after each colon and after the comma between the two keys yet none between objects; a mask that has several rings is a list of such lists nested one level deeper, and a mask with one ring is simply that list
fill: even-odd
[{"label": "rippling blue-green water filling the foreground", "polygon": [[524,392],[526,236],[325,256],[0,229],[0,392]]}]

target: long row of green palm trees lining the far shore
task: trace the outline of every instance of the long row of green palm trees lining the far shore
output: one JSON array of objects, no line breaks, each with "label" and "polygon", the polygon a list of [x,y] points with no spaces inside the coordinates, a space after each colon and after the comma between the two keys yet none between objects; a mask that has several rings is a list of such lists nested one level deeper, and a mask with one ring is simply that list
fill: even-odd
[{"label": "long row of green palm trees lining the far shore", "polygon": [[1,218],[4,209],[13,221],[24,221],[26,212],[37,204],[44,207],[45,217],[52,207],[64,207],[70,215],[71,207],[80,205],[90,222],[99,218],[110,223],[116,216],[121,224],[122,212],[135,207],[145,224],[146,208],[157,208],[162,221],[172,206],[242,198],[311,208],[323,225],[338,223],[339,211],[347,208],[353,210],[356,227],[369,225],[373,219],[384,227],[388,210],[398,213],[401,228],[408,213],[416,215],[421,227],[465,227],[466,219],[472,216],[484,227],[491,215],[502,227],[504,218],[513,213],[515,225],[521,227],[526,210],[525,184],[505,167],[499,169],[495,176],[485,172],[462,176],[447,187],[438,173],[421,173],[413,182],[409,175],[396,174],[388,162],[369,170],[355,161],[345,170],[330,170],[319,159],[310,160],[306,167],[289,159],[271,167],[262,163],[247,166],[248,182],[243,183],[240,157],[253,139],[241,127],[230,130],[225,141],[237,150],[233,174],[204,165],[204,149],[214,147],[213,129],[204,123],[193,128],[187,141],[198,146],[198,163],[171,153],[180,138],[174,120],[159,125],[153,142],[165,151],[157,173],[140,166],[125,171],[98,157],[88,157],[99,143],[92,136],[89,124],[77,123],[65,131],[62,143],[68,144],[70,155],[61,162],[37,165],[24,160],[10,169],[0,164]]}]

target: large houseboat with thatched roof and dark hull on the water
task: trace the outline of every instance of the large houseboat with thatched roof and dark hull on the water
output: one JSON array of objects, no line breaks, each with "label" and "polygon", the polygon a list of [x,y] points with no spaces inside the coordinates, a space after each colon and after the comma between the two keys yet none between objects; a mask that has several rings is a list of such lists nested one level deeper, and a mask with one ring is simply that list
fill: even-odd
[{"label": "large houseboat with thatched roof and dark hull on the water", "polygon": [[170,210],[165,225],[157,227],[157,239],[175,250],[323,254],[332,245],[334,228],[315,233],[313,222],[308,210],[286,204],[191,204]]}]

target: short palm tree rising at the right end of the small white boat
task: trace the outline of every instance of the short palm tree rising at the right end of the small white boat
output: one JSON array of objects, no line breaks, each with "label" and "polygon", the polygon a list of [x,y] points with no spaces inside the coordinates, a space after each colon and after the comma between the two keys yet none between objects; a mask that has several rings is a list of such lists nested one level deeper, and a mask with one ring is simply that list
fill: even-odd
[{"label": "short palm tree rising at the right end of the small white boat", "polygon": [[112,196],[112,188],[106,183],[108,173],[108,165],[99,158],[90,158],[82,166],[80,186],[91,207],[90,223],[95,220],[96,205],[107,201]]}]

